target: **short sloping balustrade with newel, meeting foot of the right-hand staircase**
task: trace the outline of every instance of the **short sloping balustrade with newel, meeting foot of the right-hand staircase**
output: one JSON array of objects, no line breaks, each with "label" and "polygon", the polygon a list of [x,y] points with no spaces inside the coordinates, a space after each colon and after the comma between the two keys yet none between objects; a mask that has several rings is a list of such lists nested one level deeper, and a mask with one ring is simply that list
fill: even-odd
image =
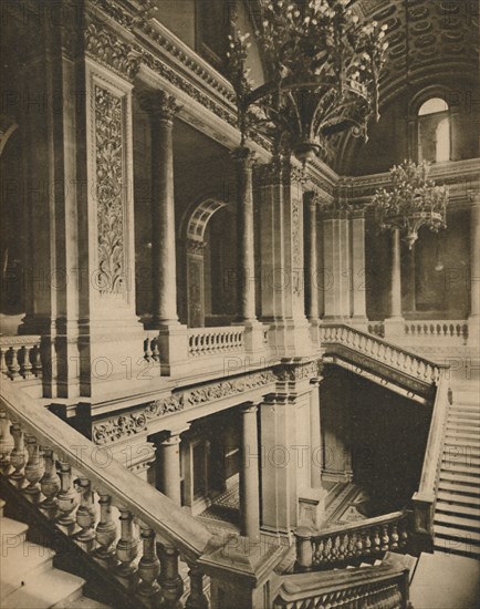
[{"label": "short sloping balustrade with newel, meeting foot of the right-hand staircase", "polygon": [[300,527],[296,537],[296,568],[325,569],[354,559],[405,551],[410,535],[410,513],[393,512],[321,533]]}]

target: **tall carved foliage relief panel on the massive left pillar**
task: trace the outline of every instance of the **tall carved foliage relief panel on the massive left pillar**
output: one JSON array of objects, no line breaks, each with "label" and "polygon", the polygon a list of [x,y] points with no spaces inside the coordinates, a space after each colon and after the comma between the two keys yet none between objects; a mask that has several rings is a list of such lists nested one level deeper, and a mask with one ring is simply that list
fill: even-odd
[{"label": "tall carved foliage relief panel on the massive left pillar", "polygon": [[98,289],[119,293],[125,279],[123,101],[95,85],[95,168]]}]

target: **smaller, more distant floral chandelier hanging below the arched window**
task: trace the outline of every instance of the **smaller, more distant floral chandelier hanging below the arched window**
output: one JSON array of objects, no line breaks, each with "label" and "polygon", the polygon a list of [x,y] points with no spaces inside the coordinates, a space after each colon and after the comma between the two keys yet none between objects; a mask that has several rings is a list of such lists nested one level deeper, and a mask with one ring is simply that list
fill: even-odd
[{"label": "smaller, more distant floral chandelier hanging below the arched window", "polygon": [[404,161],[390,169],[393,188],[379,188],[372,200],[380,228],[398,228],[408,249],[422,226],[438,231],[447,228],[447,186],[427,179],[428,164]]}]

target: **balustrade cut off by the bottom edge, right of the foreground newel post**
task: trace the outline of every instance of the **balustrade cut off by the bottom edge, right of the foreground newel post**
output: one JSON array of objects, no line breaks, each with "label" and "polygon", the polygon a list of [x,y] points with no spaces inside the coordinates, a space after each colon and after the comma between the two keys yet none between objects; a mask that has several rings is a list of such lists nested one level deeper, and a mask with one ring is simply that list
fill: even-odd
[{"label": "balustrade cut off by the bottom edge, right of the foreground newel post", "polygon": [[273,609],[408,609],[408,569],[363,567],[283,578]]}]

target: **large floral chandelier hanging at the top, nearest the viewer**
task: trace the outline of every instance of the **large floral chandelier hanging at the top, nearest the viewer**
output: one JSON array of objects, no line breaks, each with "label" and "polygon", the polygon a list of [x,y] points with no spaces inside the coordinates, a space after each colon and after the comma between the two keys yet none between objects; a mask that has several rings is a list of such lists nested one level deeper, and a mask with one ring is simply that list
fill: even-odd
[{"label": "large floral chandelier hanging at the top, nearest the viewer", "polygon": [[348,130],[367,138],[378,113],[386,25],[361,24],[349,0],[262,2],[255,32],[268,68],[254,86],[247,68],[249,34],[229,37],[229,75],[242,145],[252,128],[276,136],[304,164],[325,156],[328,137]]}]

